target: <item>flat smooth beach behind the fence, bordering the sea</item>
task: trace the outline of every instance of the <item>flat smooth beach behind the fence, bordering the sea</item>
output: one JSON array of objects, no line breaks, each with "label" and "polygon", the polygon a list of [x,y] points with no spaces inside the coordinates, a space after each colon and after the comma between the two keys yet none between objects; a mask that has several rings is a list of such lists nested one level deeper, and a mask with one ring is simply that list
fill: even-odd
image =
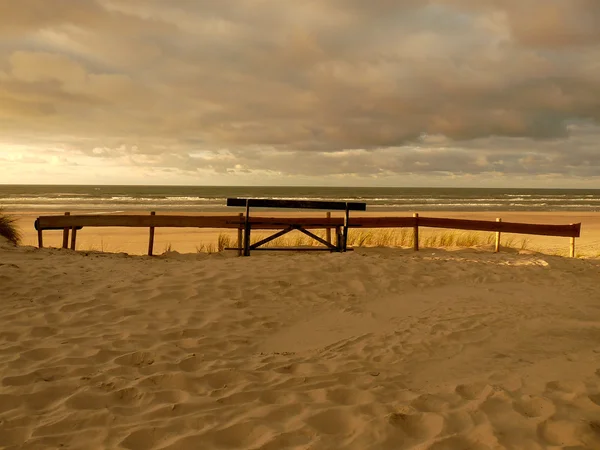
[{"label": "flat smooth beach behind the fence, bordering the sea", "polygon": [[[159,212],[164,215],[223,215],[235,216],[239,214],[240,208],[232,208],[229,213],[201,213],[201,212],[181,212],[168,211]],[[545,223],[545,224],[582,224],[581,237],[577,239],[576,251],[579,256],[598,257],[600,255],[600,212],[547,212],[547,211],[416,211],[422,217],[445,217],[445,218],[461,218],[473,220],[496,220],[500,217],[503,221],[522,222],[522,223]],[[21,228],[23,234],[22,245],[37,246],[37,233],[33,227],[35,219],[42,215],[61,215],[58,213],[49,214],[47,211],[7,211],[8,214],[17,218],[17,224]],[[86,210],[75,211],[72,214],[90,214]],[[121,212],[105,211],[104,214],[123,214]],[[149,214],[149,211],[129,211],[127,214]],[[319,217],[324,216],[324,211],[285,211],[285,210],[269,210],[269,211],[253,211],[253,215],[263,217]],[[343,216],[343,212],[332,212],[332,216]],[[411,213],[404,211],[395,211],[387,213],[352,212],[352,216],[388,216],[388,217],[408,217]],[[451,229],[429,229],[422,228],[422,236],[444,232],[452,232]],[[460,230],[454,230],[458,233],[464,233]],[[351,230],[352,232],[352,230]],[[474,232],[484,233],[484,232]],[[206,245],[216,245],[220,234],[231,236],[232,239],[237,239],[237,231],[222,230],[222,229],[192,229],[192,228],[157,228],[155,230],[155,252],[160,254],[168,249],[179,253],[196,253],[198,248]],[[488,233],[484,233],[488,234]],[[258,232],[257,235],[265,235]],[[551,237],[551,236],[532,236],[532,235],[513,235],[503,233],[505,242],[512,241],[513,244],[521,246],[524,242],[526,248],[532,251],[549,254],[568,254],[568,238]],[[94,228],[88,227],[81,230],[77,236],[77,250],[83,251],[104,251],[110,253],[128,253],[132,255],[143,255],[148,248],[148,230],[143,228],[126,228],[126,227],[106,227]],[[60,247],[62,243],[62,233],[60,231],[48,231],[44,233],[44,242],[48,247]]]}]

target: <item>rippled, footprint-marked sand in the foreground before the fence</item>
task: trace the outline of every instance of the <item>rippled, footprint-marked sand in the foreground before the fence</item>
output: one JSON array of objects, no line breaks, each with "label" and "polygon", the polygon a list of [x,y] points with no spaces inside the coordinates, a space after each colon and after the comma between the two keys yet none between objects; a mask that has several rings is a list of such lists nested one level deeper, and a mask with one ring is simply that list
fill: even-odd
[{"label": "rippled, footprint-marked sand in the foreground before the fence", "polygon": [[600,262],[0,248],[0,447],[600,449]]}]

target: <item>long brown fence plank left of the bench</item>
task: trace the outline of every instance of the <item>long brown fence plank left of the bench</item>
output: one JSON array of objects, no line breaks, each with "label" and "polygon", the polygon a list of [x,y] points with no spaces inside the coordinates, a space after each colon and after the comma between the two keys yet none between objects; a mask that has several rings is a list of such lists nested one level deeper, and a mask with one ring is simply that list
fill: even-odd
[{"label": "long brown fence plank left of the bench", "polygon": [[72,215],[40,216],[38,227],[42,230],[65,227],[170,227],[170,228],[238,228],[238,216],[149,216],[123,215]]}]

